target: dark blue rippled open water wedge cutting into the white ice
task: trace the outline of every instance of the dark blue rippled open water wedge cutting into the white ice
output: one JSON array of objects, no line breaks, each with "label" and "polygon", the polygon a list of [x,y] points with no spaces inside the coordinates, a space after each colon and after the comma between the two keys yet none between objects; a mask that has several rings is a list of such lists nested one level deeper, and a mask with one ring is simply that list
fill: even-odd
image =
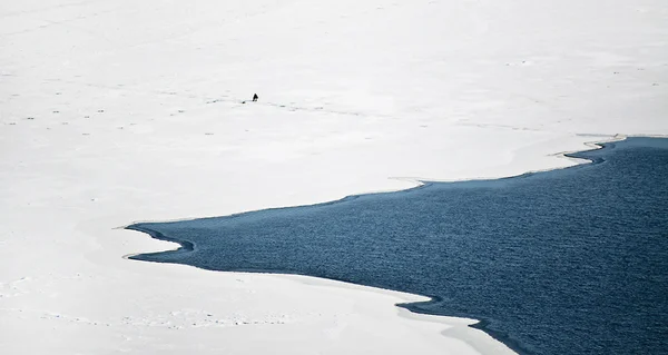
[{"label": "dark blue rippled open water wedge cutting into the white ice", "polygon": [[220,218],[138,224],[136,259],[294,273],[434,297],[523,354],[668,354],[668,139],[515,178]]}]

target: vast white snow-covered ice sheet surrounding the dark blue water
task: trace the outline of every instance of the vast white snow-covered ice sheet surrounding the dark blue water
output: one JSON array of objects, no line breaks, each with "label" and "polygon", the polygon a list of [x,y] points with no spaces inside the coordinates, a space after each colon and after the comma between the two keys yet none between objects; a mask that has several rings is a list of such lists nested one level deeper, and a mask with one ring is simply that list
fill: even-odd
[{"label": "vast white snow-covered ice sheet surrounding the dark blue water", "polygon": [[175,245],[119,227],[666,134],[665,0],[2,1],[0,349],[512,353],[393,306],[421,296],[128,260]]}]

